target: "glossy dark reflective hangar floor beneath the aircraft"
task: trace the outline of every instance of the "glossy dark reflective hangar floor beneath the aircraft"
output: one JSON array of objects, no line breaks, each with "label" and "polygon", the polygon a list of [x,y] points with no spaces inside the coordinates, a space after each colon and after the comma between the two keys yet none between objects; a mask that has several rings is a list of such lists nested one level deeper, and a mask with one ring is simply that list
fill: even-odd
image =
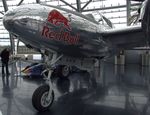
[{"label": "glossy dark reflective hangar floor beneath the aircraft", "polygon": [[68,79],[54,78],[54,104],[39,113],[31,97],[43,80],[23,78],[17,70],[25,65],[13,63],[10,76],[1,76],[0,115],[150,115],[149,67],[105,62],[101,72],[95,68],[94,77],[80,72]]}]

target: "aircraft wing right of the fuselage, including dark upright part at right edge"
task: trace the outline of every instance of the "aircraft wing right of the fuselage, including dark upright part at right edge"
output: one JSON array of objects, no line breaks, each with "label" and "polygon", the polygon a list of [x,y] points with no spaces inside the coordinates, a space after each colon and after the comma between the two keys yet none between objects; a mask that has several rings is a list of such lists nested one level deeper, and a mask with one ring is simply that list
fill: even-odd
[{"label": "aircraft wing right of the fuselage, including dark upright part at right edge", "polygon": [[150,45],[150,0],[145,0],[141,8],[141,25],[102,32],[103,39],[117,48],[129,49]]}]

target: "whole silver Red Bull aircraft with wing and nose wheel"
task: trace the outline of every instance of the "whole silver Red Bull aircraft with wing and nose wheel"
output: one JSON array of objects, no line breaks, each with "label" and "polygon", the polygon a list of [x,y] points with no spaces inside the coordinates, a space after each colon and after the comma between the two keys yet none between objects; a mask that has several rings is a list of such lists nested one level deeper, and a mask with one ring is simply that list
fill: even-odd
[{"label": "whole silver Red Bull aircraft with wing and nose wheel", "polygon": [[33,93],[33,106],[45,111],[52,105],[54,92],[50,77],[55,64],[92,70],[95,60],[119,50],[149,45],[149,6],[150,0],[146,0],[141,8],[141,25],[123,29],[107,29],[91,17],[50,5],[22,5],[6,12],[5,28],[26,45],[48,55],[46,85]]}]

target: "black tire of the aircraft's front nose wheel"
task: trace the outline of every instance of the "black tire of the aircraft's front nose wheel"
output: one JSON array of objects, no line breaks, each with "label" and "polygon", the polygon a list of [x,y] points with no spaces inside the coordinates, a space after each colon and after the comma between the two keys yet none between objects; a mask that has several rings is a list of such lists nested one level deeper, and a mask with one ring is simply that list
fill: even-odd
[{"label": "black tire of the aircraft's front nose wheel", "polygon": [[[48,85],[42,85],[38,87],[33,95],[32,95],[32,105],[33,107],[38,111],[46,111],[50,108],[54,101],[54,92],[52,91],[50,102],[46,102],[45,97],[48,94],[49,86]],[[44,98],[43,103],[48,103],[45,106],[42,104],[42,97]]]}]

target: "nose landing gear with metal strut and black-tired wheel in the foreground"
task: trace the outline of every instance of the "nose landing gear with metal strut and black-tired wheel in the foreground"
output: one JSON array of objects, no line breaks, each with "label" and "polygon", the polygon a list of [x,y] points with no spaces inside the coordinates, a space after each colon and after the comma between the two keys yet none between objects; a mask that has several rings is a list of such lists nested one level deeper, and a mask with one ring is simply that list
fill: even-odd
[{"label": "nose landing gear with metal strut and black-tired wheel in the foreground", "polygon": [[54,54],[50,63],[46,62],[47,70],[43,72],[46,73],[48,71],[48,76],[46,76],[46,84],[38,87],[33,95],[32,95],[32,105],[38,111],[46,111],[50,108],[54,101],[54,91],[51,82],[51,74],[53,72],[52,66],[62,57],[59,56],[57,58],[57,54]]}]

